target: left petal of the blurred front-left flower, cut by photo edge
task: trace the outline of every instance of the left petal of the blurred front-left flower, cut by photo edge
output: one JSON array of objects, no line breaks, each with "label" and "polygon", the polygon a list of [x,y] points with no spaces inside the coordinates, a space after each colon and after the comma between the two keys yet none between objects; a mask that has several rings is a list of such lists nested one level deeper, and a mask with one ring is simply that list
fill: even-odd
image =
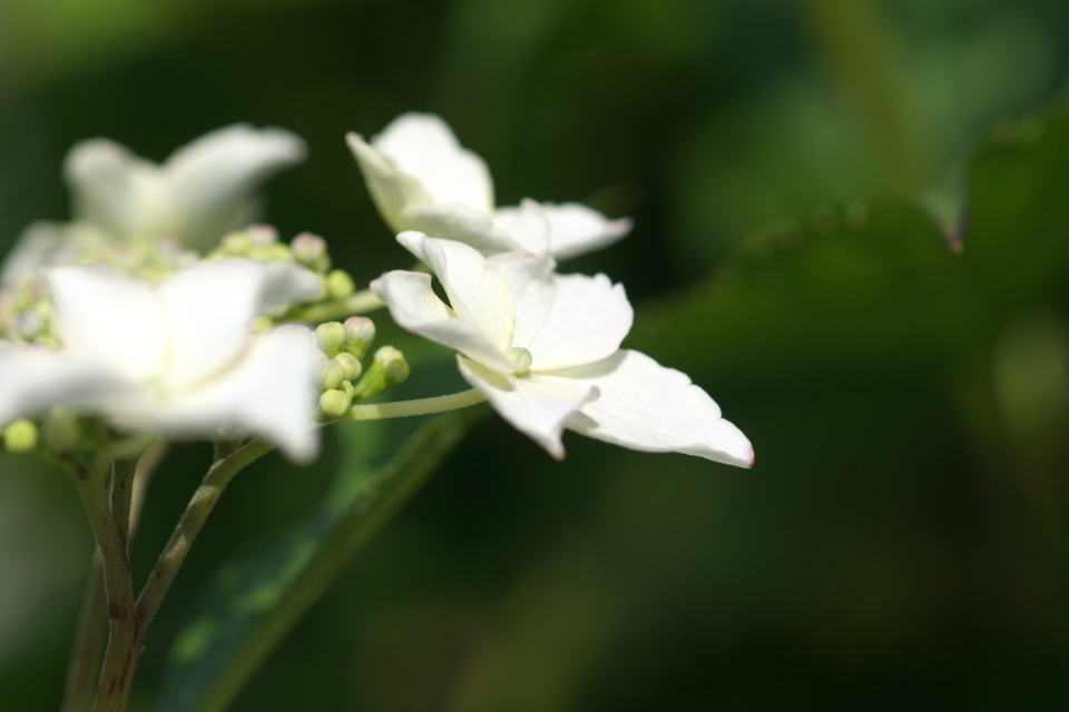
[{"label": "left petal of the blurred front-left flower, cut by photo edge", "polygon": [[96,411],[102,400],[137,390],[120,370],[41,346],[0,348],[0,425],[37,417],[56,405]]}]

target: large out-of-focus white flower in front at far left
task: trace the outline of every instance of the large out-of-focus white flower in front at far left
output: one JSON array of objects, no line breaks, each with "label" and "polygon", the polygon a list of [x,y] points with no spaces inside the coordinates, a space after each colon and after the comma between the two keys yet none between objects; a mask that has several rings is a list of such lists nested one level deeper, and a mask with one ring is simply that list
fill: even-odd
[{"label": "large out-of-focus white flower in front at far left", "polygon": [[131,431],[233,428],[274,439],[294,459],[315,454],[320,356],[311,333],[249,328],[265,312],[318,294],[308,270],[226,259],[155,285],[100,265],[46,279],[61,347],[0,349],[0,424],[65,405]]}]

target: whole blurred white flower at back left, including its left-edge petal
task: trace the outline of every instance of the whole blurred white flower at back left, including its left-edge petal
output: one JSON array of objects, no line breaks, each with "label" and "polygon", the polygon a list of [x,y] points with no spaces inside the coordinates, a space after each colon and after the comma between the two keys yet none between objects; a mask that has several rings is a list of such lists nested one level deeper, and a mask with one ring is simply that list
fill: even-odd
[{"label": "whole blurred white flower at back left, including its left-edge petal", "polygon": [[188,264],[183,248],[206,250],[247,225],[259,186],[305,152],[304,141],[288,131],[244,123],[212,131],[160,165],[109,139],[76,144],[63,164],[73,221],[27,228],[7,259],[2,284],[17,287],[48,266],[143,261],[146,251],[165,253],[171,266]]}]

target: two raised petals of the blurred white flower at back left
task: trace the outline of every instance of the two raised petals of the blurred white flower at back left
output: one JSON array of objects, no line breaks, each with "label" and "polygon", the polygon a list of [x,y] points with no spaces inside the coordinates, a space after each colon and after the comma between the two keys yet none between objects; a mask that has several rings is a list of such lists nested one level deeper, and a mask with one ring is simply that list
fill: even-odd
[{"label": "two raised petals of the blurred white flower at back left", "polygon": [[204,249],[246,225],[261,184],[304,156],[304,142],[288,131],[234,125],[161,165],[108,139],[81,141],[67,155],[63,174],[76,218],[116,238],[165,237]]}]

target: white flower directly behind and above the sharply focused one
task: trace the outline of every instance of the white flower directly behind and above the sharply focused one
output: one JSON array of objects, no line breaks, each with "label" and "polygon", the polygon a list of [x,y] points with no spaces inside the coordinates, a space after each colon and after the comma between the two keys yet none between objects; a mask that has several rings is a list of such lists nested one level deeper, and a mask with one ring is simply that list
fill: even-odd
[{"label": "white flower directly behind and above the sharply focused one", "polygon": [[[396,233],[459,240],[484,255],[522,250],[566,258],[610,245],[631,229],[627,218],[608,220],[577,202],[496,208],[486,162],[431,113],[404,113],[371,144],[359,134],[346,138],[379,211]],[[534,206],[540,216],[531,215]]]}]

